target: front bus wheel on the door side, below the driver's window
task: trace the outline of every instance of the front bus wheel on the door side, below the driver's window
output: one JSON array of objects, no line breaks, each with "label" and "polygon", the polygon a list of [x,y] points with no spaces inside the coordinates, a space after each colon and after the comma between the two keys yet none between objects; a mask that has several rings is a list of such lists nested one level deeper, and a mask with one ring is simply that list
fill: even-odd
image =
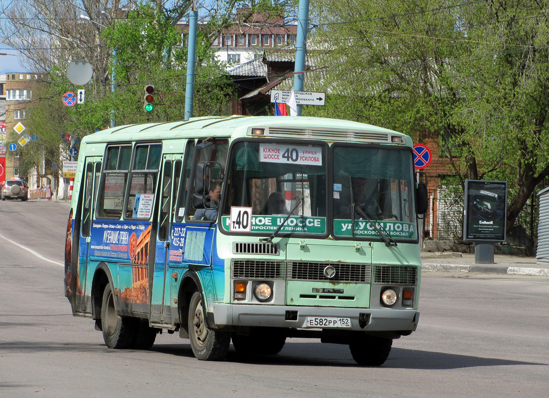
[{"label": "front bus wheel on the door side, below the driver's window", "polygon": [[208,329],[200,292],[194,292],[191,297],[187,320],[194,356],[201,361],[225,359],[231,344],[231,333]]}]

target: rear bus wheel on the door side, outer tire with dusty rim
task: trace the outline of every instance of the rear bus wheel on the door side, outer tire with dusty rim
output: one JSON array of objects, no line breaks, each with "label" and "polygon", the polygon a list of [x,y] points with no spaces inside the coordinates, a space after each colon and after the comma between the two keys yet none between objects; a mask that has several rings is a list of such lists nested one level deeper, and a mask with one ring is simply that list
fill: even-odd
[{"label": "rear bus wheel on the door side, outer tire with dusty rim", "polygon": [[116,349],[132,347],[136,338],[137,319],[118,315],[113,288],[110,283],[103,290],[101,326],[103,329],[103,340],[105,340],[107,347]]}]

